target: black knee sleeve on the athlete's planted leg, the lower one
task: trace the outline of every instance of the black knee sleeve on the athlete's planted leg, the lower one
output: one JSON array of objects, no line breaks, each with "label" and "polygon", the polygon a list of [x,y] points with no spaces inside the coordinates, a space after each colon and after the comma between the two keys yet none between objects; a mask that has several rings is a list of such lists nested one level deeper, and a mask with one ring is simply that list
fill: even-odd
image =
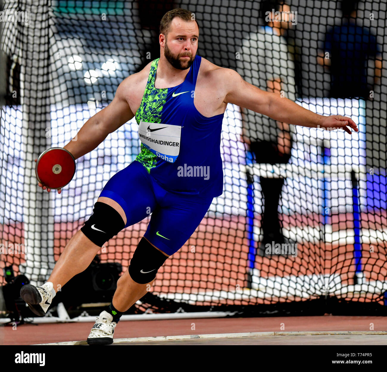
[{"label": "black knee sleeve on the athlete's planted leg, the lower one", "polygon": [[151,282],[168,257],[153,247],[146,238],[140,240],[130,260],[129,275],[139,284]]}]

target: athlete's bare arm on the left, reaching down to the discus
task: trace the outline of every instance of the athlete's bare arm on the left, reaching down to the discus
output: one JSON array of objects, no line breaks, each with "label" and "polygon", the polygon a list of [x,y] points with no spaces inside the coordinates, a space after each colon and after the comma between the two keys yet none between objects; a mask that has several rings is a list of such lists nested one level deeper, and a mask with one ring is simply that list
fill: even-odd
[{"label": "athlete's bare arm on the left, reaching down to the discus", "polygon": [[64,148],[75,159],[94,150],[108,134],[134,117],[128,104],[128,95],[138,76],[130,75],[118,86],[115,97],[103,110],[92,116],[79,130],[76,140],[70,141]]}]

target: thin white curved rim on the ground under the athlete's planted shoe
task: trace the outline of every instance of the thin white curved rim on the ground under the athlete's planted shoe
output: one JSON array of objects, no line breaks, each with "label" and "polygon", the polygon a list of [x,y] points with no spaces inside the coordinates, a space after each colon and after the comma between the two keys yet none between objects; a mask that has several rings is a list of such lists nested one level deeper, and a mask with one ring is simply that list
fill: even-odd
[{"label": "thin white curved rim on the ground under the athlete's planted shoe", "polygon": [[[156,336],[137,338],[118,338],[113,345],[127,342],[174,341],[200,338],[243,338],[262,336],[331,336],[331,335],[387,335],[387,331],[294,331],[294,332],[248,332],[248,333],[218,333],[218,334],[185,334],[183,336]],[[35,345],[87,345],[87,341],[66,341]]]}]

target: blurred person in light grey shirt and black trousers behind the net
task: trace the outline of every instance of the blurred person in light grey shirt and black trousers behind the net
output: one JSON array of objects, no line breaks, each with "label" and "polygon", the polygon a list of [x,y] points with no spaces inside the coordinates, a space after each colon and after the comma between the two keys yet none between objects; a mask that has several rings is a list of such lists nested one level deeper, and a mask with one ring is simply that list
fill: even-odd
[{"label": "blurred person in light grey shirt and black trousers behind the net", "polygon": [[[272,12],[281,12],[281,21]],[[295,101],[294,63],[288,52],[284,32],[291,26],[290,7],[283,0],[263,1],[260,16],[266,26],[259,27],[242,41],[237,71],[247,82]],[[257,163],[288,163],[291,156],[292,132],[289,124],[276,122],[262,114],[241,108],[242,141],[250,147]],[[265,244],[287,243],[278,216],[279,198],[284,178],[260,177],[264,212],[261,221],[263,235],[259,254]]]}]

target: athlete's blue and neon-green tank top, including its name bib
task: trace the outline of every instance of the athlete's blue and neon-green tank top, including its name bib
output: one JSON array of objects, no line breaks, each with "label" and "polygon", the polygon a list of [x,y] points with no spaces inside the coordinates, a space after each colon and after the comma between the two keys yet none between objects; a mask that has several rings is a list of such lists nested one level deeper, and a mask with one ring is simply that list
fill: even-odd
[{"label": "athlete's blue and neon-green tank top, including its name bib", "polygon": [[201,60],[195,57],[182,84],[164,89],[154,87],[159,58],[152,61],[135,115],[141,140],[136,160],[166,190],[215,197],[223,192],[224,113],[205,117],[194,106]]}]

